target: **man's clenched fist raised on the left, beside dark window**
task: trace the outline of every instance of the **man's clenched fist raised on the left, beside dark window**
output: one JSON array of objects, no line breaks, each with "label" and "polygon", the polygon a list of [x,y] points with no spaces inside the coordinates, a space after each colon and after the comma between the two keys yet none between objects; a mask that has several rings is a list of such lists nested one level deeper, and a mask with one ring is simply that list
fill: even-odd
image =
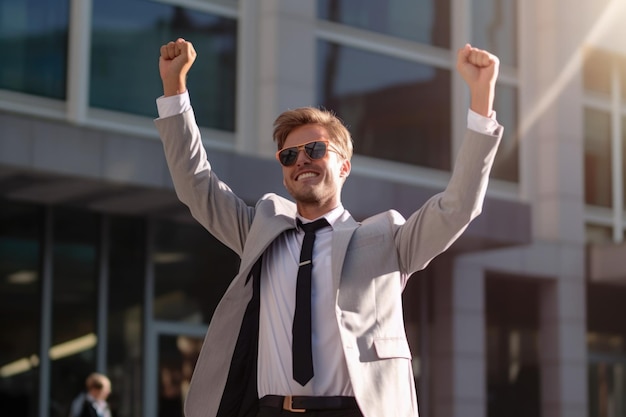
[{"label": "man's clenched fist raised on the left, beside dark window", "polygon": [[159,74],[163,82],[163,95],[173,96],[187,91],[187,73],[196,60],[196,50],[191,42],[178,38],[161,46]]}]

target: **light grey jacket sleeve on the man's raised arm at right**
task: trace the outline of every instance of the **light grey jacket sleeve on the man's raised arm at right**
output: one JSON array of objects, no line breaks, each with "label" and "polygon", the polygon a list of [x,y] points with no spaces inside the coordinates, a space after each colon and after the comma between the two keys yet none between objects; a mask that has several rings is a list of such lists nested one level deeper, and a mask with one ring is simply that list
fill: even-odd
[{"label": "light grey jacket sleeve on the man's raised arm at right", "polygon": [[481,213],[502,133],[502,126],[494,135],[466,131],[446,189],[431,197],[395,232],[402,272],[412,274],[425,268]]}]

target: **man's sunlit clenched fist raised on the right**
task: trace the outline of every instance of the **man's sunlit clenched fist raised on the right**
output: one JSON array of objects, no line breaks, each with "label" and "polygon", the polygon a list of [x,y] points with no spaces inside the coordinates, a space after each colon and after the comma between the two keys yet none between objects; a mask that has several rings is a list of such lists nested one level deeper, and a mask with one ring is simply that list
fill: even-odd
[{"label": "man's sunlit clenched fist raised on the right", "polygon": [[457,54],[457,71],[469,86],[472,96],[470,108],[486,117],[493,112],[499,67],[497,56],[470,44],[459,49]]}]

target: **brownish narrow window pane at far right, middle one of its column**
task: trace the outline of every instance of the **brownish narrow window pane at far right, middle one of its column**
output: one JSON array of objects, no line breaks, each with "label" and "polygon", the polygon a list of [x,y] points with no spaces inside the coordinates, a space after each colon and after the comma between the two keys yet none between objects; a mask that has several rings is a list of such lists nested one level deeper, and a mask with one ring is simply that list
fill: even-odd
[{"label": "brownish narrow window pane at far right, middle one of its column", "polygon": [[585,109],[585,202],[611,207],[611,116]]}]

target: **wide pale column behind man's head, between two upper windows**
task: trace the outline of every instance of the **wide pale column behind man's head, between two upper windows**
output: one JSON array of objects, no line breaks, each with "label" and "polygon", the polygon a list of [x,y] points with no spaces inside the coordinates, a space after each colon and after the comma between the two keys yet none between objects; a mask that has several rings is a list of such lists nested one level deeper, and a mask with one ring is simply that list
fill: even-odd
[{"label": "wide pale column behind man's head, between two upper windows", "polygon": [[273,155],[276,116],[315,104],[315,7],[315,2],[240,1],[238,149]]}]

